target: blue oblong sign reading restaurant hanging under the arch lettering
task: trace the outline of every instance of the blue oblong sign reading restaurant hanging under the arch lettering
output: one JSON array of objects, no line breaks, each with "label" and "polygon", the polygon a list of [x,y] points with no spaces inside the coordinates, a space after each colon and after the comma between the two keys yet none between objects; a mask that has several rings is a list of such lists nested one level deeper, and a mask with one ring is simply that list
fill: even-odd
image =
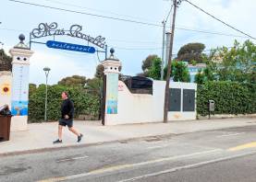
[{"label": "blue oblong sign reading restaurant hanging under the arch lettering", "polygon": [[82,52],[87,52],[87,53],[95,52],[95,48],[90,47],[90,46],[83,46],[83,45],[79,45],[79,44],[72,44],[72,43],[53,41],[53,40],[46,41],[46,46],[48,48],[67,50],[67,51],[82,51]]}]

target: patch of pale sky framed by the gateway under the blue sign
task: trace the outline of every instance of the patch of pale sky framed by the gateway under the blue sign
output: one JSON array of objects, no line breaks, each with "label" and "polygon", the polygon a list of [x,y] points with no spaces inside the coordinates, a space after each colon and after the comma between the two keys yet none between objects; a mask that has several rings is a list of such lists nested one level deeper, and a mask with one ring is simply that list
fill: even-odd
[{"label": "patch of pale sky framed by the gateway under the blue sign", "polygon": [[[67,55],[67,56],[65,56]],[[74,74],[86,77],[93,76],[95,72],[95,63],[80,63],[78,59],[70,58],[69,53],[58,54],[48,51],[35,51],[30,58],[30,83],[40,84],[45,80],[43,67],[51,68],[49,74],[49,84],[56,84],[64,77]],[[45,82],[45,81],[44,81]]]}]

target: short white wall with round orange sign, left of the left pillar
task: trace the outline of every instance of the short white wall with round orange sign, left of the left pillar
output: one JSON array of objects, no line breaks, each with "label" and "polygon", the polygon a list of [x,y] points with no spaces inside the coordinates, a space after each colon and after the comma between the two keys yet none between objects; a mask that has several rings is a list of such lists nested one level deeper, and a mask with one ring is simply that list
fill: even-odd
[{"label": "short white wall with round orange sign, left of the left pillar", "polygon": [[[10,107],[11,105],[11,83],[11,72],[0,72],[0,106],[7,104]],[[8,87],[9,92],[4,92],[4,87]]]}]

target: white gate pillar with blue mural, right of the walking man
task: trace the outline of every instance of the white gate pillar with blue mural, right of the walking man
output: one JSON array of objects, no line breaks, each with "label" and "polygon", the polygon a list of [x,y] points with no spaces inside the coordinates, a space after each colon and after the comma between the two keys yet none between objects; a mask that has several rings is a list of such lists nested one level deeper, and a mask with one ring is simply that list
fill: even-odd
[{"label": "white gate pillar with blue mural, right of the walking man", "polygon": [[121,66],[121,62],[114,57],[114,49],[111,49],[110,52],[110,57],[102,63],[106,75],[105,125],[110,125],[112,116],[118,112],[118,68]]}]

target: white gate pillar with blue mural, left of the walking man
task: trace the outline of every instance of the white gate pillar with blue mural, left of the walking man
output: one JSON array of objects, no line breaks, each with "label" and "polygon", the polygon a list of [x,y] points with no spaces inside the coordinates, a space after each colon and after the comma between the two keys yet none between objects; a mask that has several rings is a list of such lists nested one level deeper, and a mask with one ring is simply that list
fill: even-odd
[{"label": "white gate pillar with blue mural, left of the walking man", "polygon": [[14,117],[11,120],[11,131],[26,131],[29,114],[30,56],[33,51],[30,51],[30,48],[24,44],[23,34],[20,34],[18,39],[20,40],[18,45],[9,51],[13,57],[11,112]]}]

